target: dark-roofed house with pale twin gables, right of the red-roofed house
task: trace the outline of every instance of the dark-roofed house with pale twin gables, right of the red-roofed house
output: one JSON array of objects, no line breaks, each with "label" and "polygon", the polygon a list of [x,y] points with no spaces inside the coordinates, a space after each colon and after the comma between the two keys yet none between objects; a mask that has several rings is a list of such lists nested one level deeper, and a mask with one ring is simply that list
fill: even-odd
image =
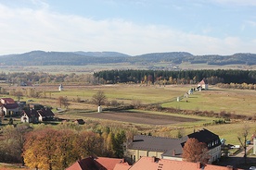
[{"label": "dark-roofed house with pale twin gables, right of the red-roofed house", "polygon": [[54,113],[49,108],[41,110],[28,109],[23,110],[20,115],[20,121],[23,123],[38,123],[54,119]]}]

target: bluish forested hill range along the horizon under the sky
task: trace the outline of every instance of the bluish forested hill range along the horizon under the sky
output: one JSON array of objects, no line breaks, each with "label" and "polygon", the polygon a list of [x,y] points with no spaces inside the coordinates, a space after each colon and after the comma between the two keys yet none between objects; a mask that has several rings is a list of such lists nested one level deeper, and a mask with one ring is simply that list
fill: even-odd
[{"label": "bluish forested hill range along the horizon under the sky", "polygon": [[186,52],[125,55],[117,52],[44,52],[32,51],[19,55],[0,55],[2,66],[84,66],[88,64],[152,64],[170,62],[208,65],[256,65],[256,54],[191,55]]}]

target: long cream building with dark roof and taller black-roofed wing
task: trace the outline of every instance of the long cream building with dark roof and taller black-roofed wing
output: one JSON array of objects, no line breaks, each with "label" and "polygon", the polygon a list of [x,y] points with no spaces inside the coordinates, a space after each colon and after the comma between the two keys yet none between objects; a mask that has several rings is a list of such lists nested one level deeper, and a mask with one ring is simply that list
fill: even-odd
[{"label": "long cream building with dark roof and taller black-roofed wing", "polygon": [[221,157],[219,136],[207,129],[198,130],[182,139],[137,135],[134,136],[132,142],[127,143],[126,155],[129,155],[128,161],[131,163],[138,161],[142,156],[182,161],[183,147],[186,140],[190,138],[207,144],[211,156],[209,163],[217,161]]}]

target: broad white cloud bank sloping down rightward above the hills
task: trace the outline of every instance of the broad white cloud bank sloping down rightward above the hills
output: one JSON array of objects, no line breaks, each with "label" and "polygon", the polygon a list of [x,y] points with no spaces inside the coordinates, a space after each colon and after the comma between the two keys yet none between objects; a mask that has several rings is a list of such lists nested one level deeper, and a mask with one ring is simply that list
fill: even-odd
[{"label": "broad white cloud bank sloping down rightward above the hills", "polygon": [[0,55],[32,50],[116,51],[127,55],[186,51],[194,55],[231,55],[246,49],[256,53],[251,51],[255,42],[244,43],[236,37],[220,39],[164,25],[139,25],[122,18],[94,20],[62,15],[50,11],[46,4],[40,6],[12,8],[0,4]]}]

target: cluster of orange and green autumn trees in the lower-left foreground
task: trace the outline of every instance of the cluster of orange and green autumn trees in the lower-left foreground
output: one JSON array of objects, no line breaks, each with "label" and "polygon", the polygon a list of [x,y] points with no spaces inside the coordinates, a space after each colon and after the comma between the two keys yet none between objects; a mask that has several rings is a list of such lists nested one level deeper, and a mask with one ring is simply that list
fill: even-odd
[{"label": "cluster of orange and green autumn trees in the lower-left foreground", "polygon": [[65,169],[88,156],[122,158],[123,143],[133,129],[65,123],[57,127],[29,124],[2,129],[0,162],[20,163],[36,169]]}]

